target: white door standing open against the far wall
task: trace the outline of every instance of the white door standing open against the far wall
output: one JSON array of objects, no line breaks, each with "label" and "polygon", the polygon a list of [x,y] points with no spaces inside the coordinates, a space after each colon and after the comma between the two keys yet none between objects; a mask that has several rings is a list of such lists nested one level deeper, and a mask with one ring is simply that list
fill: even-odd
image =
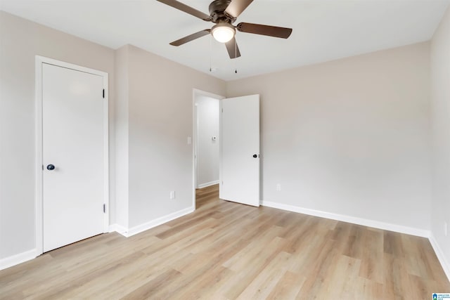
[{"label": "white door standing open against the far wall", "polygon": [[226,98],[220,108],[219,197],[259,207],[259,95]]}]

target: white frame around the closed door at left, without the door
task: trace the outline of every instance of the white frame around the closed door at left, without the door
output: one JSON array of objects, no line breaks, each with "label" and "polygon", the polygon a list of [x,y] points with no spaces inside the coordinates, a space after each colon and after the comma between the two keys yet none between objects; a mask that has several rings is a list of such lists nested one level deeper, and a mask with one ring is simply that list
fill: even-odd
[{"label": "white frame around the closed door at left, without the door", "polygon": [[108,73],[81,67],[60,60],[36,56],[35,61],[35,152],[36,152],[36,195],[35,195],[35,215],[36,215],[36,251],[37,255],[44,253],[44,232],[43,232],[43,162],[42,162],[42,64],[56,65],[80,72],[86,72],[103,77],[103,87],[105,89],[105,99],[103,101],[103,204],[105,204],[105,214],[103,214],[103,232],[108,232],[109,227],[109,141],[108,141]]}]

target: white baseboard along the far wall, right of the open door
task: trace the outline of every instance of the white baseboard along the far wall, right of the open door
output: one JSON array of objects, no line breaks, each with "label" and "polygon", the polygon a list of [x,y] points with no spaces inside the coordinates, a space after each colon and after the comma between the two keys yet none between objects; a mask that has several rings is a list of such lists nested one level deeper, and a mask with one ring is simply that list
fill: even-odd
[{"label": "white baseboard along the far wall, right of the open door", "polygon": [[289,204],[277,203],[277,202],[269,202],[262,200],[261,205],[264,207],[273,207],[276,209],[283,209],[286,211],[294,211],[300,214],[308,214],[310,216],[319,216],[321,218],[332,219],[337,221],[343,221],[347,223],[358,224],[362,226],[368,226],[383,230],[395,231],[397,233],[406,233],[407,235],[416,235],[418,237],[430,237],[430,230],[423,230],[418,228],[412,228],[408,226],[402,226],[392,223],[385,223],[380,221],[374,221],[369,219],[357,218],[355,216],[346,216],[343,214],[333,214],[326,211],[319,211],[316,209],[306,209],[303,207],[296,207]]}]

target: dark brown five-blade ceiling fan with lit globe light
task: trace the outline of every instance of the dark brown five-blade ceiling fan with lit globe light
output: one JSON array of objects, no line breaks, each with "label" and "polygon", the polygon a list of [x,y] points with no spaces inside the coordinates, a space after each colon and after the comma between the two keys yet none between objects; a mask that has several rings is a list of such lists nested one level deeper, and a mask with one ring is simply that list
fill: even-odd
[{"label": "dark brown five-blade ceiling fan with lit globe light", "polygon": [[201,30],[181,39],[177,39],[176,41],[172,41],[172,43],[170,43],[172,46],[180,46],[186,44],[188,41],[193,41],[194,39],[198,39],[207,34],[212,34],[214,39],[225,44],[230,58],[238,58],[240,57],[240,51],[235,38],[236,30],[240,32],[262,34],[269,37],[281,37],[283,39],[287,39],[291,32],[293,32],[292,28],[245,22],[240,22],[238,25],[234,26],[233,22],[236,21],[238,16],[252,3],[253,0],[214,0],[209,7],[210,15],[202,13],[201,11],[176,0],[157,1],[179,9],[180,11],[184,11],[185,13],[204,21],[214,22],[216,24],[211,29]]}]

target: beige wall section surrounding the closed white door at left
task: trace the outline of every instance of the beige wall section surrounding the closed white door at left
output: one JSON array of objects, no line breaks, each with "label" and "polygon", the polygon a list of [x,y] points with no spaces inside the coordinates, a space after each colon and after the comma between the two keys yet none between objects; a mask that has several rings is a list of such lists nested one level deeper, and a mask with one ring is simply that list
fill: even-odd
[{"label": "beige wall section surrounding the closed white door at left", "polygon": [[[0,41],[0,259],[4,259],[36,247],[35,56],[108,72],[109,100],[114,103],[114,51],[4,11],[0,11]],[[113,115],[110,105],[110,145]],[[114,157],[111,146],[110,156]]]}]

